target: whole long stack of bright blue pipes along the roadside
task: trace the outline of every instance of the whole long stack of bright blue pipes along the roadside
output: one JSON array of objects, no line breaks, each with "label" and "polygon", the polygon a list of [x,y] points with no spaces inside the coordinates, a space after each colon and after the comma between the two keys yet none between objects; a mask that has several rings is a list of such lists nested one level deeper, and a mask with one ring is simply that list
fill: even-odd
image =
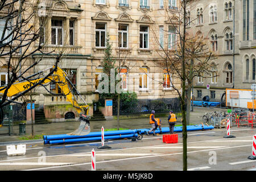
[{"label": "whole long stack of bright blue pipes along the roadside", "polygon": [[[193,130],[212,130],[214,127],[212,125],[191,125],[187,126],[187,131]],[[123,139],[138,137],[138,134],[145,134],[146,131],[150,129],[135,129],[135,130],[118,130],[118,131],[105,131],[104,139]],[[182,131],[182,126],[174,127],[174,132]],[[160,133],[159,128],[155,131],[156,134]],[[169,127],[162,127],[162,133],[170,133]],[[152,134],[149,133],[149,134]],[[86,142],[86,141],[96,141],[101,140],[101,131],[91,132],[88,135],[44,135],[44,144],[63,144],[63,143],[73,143],[73,142]]]}]

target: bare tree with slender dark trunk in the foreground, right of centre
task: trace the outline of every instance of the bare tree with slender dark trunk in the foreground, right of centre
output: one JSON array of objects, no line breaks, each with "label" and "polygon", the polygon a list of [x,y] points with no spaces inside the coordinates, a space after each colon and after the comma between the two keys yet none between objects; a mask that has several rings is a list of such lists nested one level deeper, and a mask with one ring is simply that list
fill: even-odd
[{"label": "bare tree with slender dark trunk in the foreground, right of centre", "polygon": [[[171,31],[170,29],[159,30],[166,35],[162,38],[158,36],[159,32],[154,33],[155,50],[160,57],[158,65],[170,78],[170,85],[166,85],[166,82],[159,82],[159,84],[170,86],[176,90],[181,102],[184,171],[187,171],[187,121],[189,121],[193,78],[203,75],[212,77],[214,65],[211,62],[216,59],[214,52],[209,49],[209,43],[205,41],[207,39],[193,30],[187,30],[187,27],[199,18],[192,19],[188,14],[188,11],[195,7],[196,2],[196,0],[180,0],[178,7],[171,7],[172,10],[170,7],[164,6],[166,10],[164,18],[170,24]],[[155,31],[152,30],[152,32]],[[166,44],[164,44],[164,40],[166,40]]]}]

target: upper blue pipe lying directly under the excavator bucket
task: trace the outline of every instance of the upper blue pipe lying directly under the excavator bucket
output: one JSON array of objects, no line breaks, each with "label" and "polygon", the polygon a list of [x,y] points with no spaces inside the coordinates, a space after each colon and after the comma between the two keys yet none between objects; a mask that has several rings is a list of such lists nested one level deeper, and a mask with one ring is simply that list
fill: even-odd
[{"label": "upper blue pipe lying directly under the excavator bucket", "polygon": [[[133,134],[137,133],[137,130],[117,130],[117,131],[105,131],[104,136],[110,135],[126,135],[126,134]],[[46,140],[58,140],[58,139],[74,139],[74,138],[89,138],[89,137],[101,137],[101,131],[92,132],[88,135],[46,135]]]}]

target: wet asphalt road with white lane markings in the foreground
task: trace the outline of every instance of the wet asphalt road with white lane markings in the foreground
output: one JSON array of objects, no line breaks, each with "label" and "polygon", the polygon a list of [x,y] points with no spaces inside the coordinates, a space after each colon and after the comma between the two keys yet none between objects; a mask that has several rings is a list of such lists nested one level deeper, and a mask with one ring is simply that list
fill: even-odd
[{"label": "wet asphalt road with white lane markings in the foreground", "polygon": [[[224,138],[226,130],[188,132],[188,169],[197,171],[254,170],[251,155],[256,129],[232,127],[236,138]],[[26,155],[8,156],[0,146],[0,170],[90,171],[92,149],[97,171],[179,171],[183,169],[182,134],[178,143],[163,143],[162,135],[142,140],[109,140],[112,148],[98,149],[100,142],[44,145],[26,144]]]}]

